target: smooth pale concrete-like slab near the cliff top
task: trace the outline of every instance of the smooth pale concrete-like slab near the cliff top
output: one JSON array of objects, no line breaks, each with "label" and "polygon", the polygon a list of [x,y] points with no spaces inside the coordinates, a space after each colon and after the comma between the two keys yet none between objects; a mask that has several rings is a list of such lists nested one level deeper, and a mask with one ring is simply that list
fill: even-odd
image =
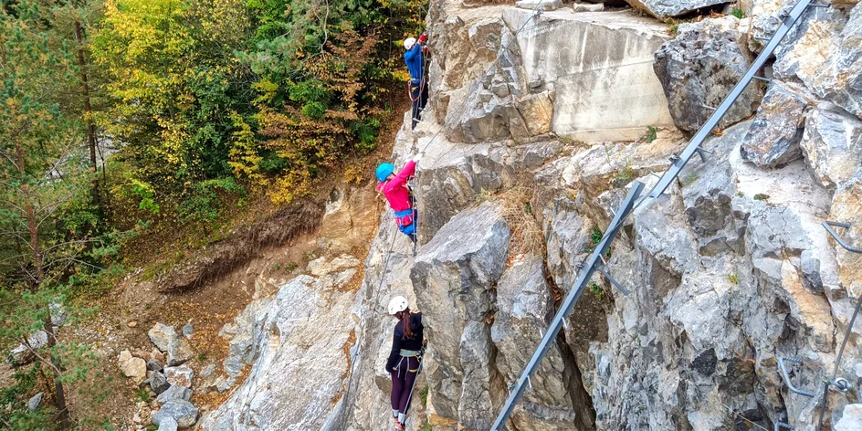
[{"label": "smooth pale concrete-like slab near the cliff top", "polygon": [[[510,28],[532,26],[530,16],[503,11]],[[667,39],[664,26],[632,11],[558,10],[520,32],[517,46],[524,76],[536,86],[531,91],[553,90],[554,133],[585,142],[634,141],[647,126],[673,124],[652,70],[653,53]]]}]

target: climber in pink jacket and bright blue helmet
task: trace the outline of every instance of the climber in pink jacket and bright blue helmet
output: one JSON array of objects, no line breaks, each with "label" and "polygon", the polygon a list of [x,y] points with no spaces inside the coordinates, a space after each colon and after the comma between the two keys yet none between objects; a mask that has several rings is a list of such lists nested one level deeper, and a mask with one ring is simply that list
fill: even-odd
[{"label": "climber in pink jacket and bright blue helmet", "polygon": [[410,240],[416,242],[416,208],[413,205],[413,195],[407,188],[409,180],[416,171],[416,163],[422,158],[422,153],[416,154],[405,164],[404,169],[394,173],[392,163],[382,163],[377,166],[377,191],[386,196],[389,206],[395,213],[395,224]]}]

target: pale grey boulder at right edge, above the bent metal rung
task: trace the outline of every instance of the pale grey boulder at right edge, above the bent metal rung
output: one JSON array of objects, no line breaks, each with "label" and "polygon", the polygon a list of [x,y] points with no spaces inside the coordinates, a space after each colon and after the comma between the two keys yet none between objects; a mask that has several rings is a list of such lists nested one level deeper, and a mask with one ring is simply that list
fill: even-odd
[{"label": "pale grey boulder at right edge, above the bent metal rung", "polygon": [[862,165],[862,121],[844,110],[812,110],[800,146],[815,178],[834,188]]}]

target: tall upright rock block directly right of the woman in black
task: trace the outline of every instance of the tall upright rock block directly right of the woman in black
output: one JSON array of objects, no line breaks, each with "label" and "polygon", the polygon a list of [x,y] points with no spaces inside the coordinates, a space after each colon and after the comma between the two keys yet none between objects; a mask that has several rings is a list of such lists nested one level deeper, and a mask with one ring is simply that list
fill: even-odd
[{"label": "tall upright rock block directly right of the woman in black", "polygon": [[[494,374],[486,319],[506,266],[510,228],[498,205],[486,203],[452,217],[419,249],[410,279],[423,310],[436,366],[426,374],[436,415],[468,427],[488,428],[501,394]],[[464,364],[468,364],[464,367]],[[477,388],[489,388],[484,393]],[[465,401],[462,402],[462,396]]]}]

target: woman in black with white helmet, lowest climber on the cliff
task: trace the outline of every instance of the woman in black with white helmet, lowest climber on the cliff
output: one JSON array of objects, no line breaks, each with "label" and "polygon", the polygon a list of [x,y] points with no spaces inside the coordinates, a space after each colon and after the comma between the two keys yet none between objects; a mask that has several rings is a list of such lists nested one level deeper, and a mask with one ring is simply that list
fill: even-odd
[{"label": "woman in black with white helmet, lowest climber on the cliff", "polygon": [[398,320],[386,371],[392,376],[392,416],[396,429],[405,429],[407,406],[422,360],[422,313],[411,314],[405,297],[389,301],[389,314]]}]

